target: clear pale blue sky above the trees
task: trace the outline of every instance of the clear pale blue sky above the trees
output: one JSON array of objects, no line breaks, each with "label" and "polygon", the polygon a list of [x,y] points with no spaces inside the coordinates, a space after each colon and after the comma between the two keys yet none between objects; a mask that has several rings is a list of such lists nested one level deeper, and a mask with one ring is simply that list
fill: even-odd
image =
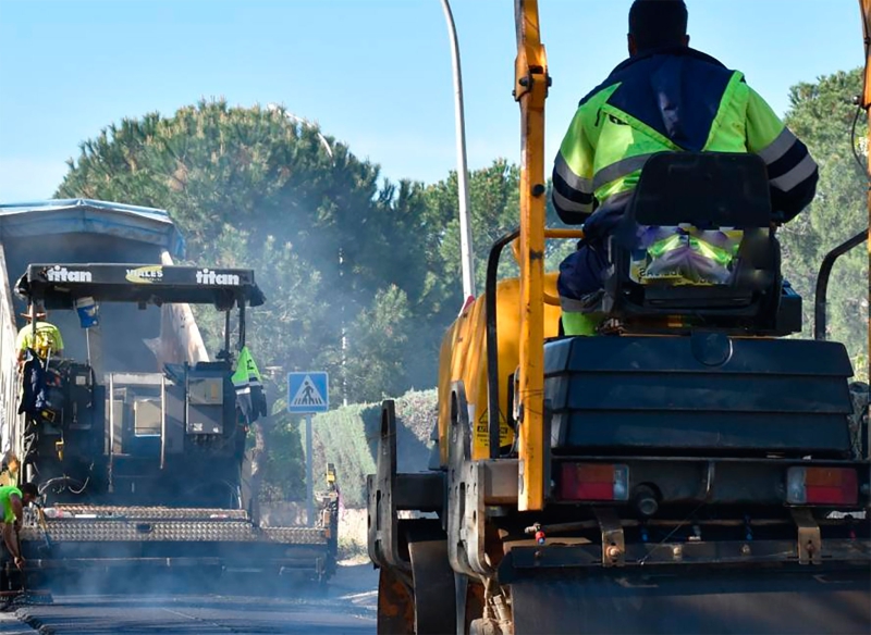
[{"label": "clear pale blue sky above the trees", "polygon": [[[630,0],[540,0],[552,155],[625,55]],[[862,62],[856,0],[687,0],[692,45],[783,113],[789,86]],[[453,0],[470,167],[519,157],[511,0]],[[0,201],[48,198],[78,144],[206,97],[284,103],[392,179],[455,169],[439,0],[0,0]],[[135,202],[135,201],[130,201]]]}]

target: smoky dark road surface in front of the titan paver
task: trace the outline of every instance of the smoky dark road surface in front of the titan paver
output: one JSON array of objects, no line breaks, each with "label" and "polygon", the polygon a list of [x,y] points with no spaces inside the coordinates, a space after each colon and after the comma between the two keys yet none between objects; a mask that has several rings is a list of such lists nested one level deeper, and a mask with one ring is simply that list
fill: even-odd
[{"label": "smoky dark road surface in front of the titan paver", "polygon": [[341,566],[326,593],[311,589],[260,594],[54,595],[50,605],[0,613],[0,635],[35,632],[82,635],[179,633],[376,632],[377,573],[371,565]]}]

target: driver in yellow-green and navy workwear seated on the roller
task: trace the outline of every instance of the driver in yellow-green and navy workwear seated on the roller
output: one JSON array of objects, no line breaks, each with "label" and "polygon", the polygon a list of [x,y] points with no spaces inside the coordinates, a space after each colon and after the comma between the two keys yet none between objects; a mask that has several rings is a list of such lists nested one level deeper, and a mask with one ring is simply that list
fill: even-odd
[{"label": "driver in yellow-green and navy workwear seated on the roller", "polygon": [[[744,75],[689,47],[683,0],[635,0],[629,59],[580,100],[553,169],[553,204],[585,239],[560,265],[566,335],[589,335],[585,313],[603,286],[605,239],[618,225],[651,154],[755,152],[768,165],[775,221],[787,222],[817,190],[817,163]],[[571,310],[567,310],[571,309]]]}]

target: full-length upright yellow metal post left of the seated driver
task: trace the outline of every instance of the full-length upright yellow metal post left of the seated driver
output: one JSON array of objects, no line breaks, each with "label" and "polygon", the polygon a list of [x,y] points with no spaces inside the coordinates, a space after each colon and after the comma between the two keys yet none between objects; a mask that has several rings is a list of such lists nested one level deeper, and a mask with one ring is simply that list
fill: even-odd
[{"label": "full-length upright yellow metal post left of the seated driver", "polygon": [[518,508],[544,507],[544,100],[550,76],[538,0],[515,0],[514,98],[520,104],[520,337]]}]

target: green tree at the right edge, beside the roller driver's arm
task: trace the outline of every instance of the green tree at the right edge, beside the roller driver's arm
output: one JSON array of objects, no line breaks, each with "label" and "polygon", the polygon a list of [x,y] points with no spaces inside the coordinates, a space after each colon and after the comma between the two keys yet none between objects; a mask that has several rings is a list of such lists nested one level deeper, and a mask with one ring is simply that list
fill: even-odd
[{"label": "green tree at the right edge, beside the roller driver's arm", "polygon": [[[817,198],[781,232],[785,276],[805,298],[805,334],[813,325],[817,271],[823,256],[868,226],[866,117],[852,104],[861,94],[857,69],[794,86],[786,123],[820,165]],[[856,120],[858,115],[858,121]],[[855,135],[851,135],[857,121]],[[857,373],[867,368],[868,256],[855,249],[835,265],[829,286],[829,336],[843,341]]]}]

